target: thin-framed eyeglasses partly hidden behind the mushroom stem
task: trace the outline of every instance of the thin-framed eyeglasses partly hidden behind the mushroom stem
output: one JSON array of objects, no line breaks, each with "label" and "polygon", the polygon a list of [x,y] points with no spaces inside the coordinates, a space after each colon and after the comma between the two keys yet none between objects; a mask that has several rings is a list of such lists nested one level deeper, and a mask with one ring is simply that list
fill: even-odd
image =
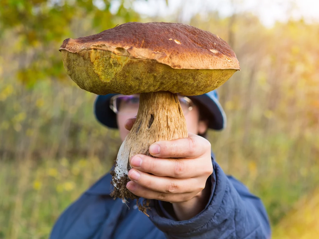
[{"label": "thin-framed eyeglasses partly hidden behind the mushroom stem", "polygon": [[[178,95],[182,111],[186,115],[194,107],[193,101],[186,97]],[[139,95],[115,95],[110,99],[110,108],[117,113],[136,113],[139,106]]]}]

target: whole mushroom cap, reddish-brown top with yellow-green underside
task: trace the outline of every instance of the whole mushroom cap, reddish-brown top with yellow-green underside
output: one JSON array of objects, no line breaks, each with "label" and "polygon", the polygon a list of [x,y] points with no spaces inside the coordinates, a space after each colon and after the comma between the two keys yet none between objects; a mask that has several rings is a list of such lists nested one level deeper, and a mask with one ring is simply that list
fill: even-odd
[{"label": "whole mushroom cap, reddish-brown top with yellow-green underside", "polygon": [[59,50],[72,80],[99,95],[154,91],[200,95],[240,69],[224,40],[179,23],[129,22],[66,39]]}]

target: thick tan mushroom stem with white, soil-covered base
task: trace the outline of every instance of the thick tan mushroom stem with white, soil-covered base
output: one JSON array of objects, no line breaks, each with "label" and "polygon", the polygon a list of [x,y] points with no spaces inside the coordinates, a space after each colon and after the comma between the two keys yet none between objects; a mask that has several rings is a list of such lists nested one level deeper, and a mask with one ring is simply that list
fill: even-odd
[{"label": "thick tan mushroom stem with white, soil-covered base", "polygon": [[186,120],[177,94],[169,91],[140,93],[136,122],[123,141],[112,171],[114,191],[112,196],[136,199],[126,184],[130,180],[130,158],[137,154],[151,156],[148,149],[157,141],[188,136]]}]

